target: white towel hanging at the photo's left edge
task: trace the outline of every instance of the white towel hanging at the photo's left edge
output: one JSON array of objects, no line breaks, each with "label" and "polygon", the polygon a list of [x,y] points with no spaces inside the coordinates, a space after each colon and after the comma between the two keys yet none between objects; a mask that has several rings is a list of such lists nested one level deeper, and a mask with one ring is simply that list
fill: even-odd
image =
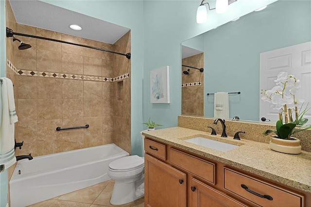
[{"label": "white towel hanging at the photo's left edge", "polygon": [[7,169],[16,162],[14,124],[18,119],[15,111],[12,81],[8,78],[1,79],[0,164],[4,164],[5,169]]}]

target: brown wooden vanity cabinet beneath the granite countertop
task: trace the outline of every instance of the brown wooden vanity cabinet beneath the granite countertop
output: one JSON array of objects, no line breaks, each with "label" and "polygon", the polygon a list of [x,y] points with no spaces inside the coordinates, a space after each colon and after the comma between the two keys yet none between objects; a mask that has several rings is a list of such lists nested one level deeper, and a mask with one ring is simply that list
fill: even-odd
[{"label": "brown wooden vanity cabinet beneath the granite countertop", "polygon": [[305,207],[304,194],[282,186],[145,138],[146,207]]}]

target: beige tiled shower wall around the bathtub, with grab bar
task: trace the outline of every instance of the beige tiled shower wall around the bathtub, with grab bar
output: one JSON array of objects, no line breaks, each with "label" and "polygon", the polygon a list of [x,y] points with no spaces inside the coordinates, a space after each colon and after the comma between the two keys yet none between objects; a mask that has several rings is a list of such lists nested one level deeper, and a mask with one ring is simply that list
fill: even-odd
[{"label": "beige tiled shower wall around the bathtub, with grab bar", "polygon": [[[130,51],[130,32],[110,45],[22,24],[17,24],[15,31],[110,51]],[[16,155],[47,155],[114,142],[131,153],[130,60],[65,43],[18,38],[32,48],[20,51],[14,46],[18,70],[14,78],[16,139],[24,141]],[[122,76],[125,79],[112,82],[122,74],[126,74]],[[118,84],[125,87],[117,90]],[[118,91],[124,100],[117,100]],[[87,129],[56,131],[58,126],[86,124]]]}]

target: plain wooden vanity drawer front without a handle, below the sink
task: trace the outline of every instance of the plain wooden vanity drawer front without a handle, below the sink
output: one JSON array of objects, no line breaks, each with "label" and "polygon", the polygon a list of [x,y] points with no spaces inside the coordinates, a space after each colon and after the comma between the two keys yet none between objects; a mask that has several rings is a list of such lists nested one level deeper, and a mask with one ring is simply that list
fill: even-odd
[{"label": "plain wooden vanity drawer front without a handle, below the sink", "polygon": [[216,184],[216,164],[170,148],[170,163],[192,173],[211,184]]}]

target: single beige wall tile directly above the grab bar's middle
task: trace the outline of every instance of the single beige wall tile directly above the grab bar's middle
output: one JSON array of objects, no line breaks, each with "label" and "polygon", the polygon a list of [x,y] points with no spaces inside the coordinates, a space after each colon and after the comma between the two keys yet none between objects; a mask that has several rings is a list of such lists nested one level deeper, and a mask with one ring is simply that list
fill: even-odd
[{"label": "single beige wall tile directly above the grab bar's middle", "polygon": [[82,99],[63,99],[62,100],[62,118],[83,118],[84,102]]}]

